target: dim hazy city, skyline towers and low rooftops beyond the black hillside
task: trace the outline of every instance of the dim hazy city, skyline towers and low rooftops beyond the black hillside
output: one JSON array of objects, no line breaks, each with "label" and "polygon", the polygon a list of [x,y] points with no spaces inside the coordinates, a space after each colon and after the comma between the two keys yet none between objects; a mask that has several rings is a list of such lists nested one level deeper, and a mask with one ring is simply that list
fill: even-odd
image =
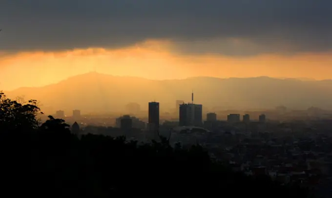
[{"label": "dim hazy city, skyline towers and low rooftops beyond the black hillside", "polygon": [[[135,115],[141,110],[140,105],[130,103],[126,106],[129,113],[114,117],[115,127],[107,123],[109,117],[96,116],[95,120],[89,118],[94,126],[85,126],[83,129],[80,125],[84,125],[85,118],[82,118],[80,110],[73,110],[69,118],[75,121],[71,131],[78,135],[125,135],[127,139],[139,142],[157,140],[159,135],[163,135],[169,137],[171,145],[181,143],[184,148],[198,143],[207,148],[211,156],[228,164],[233,171],[252,176],[267,175],[284,184],[313,186],[321,182],[323,174],[331,175],[331,120],[286,122],[273,120],[269,111],[226,111],[224,114],[218,111],[218,114],[207,112],[203,122],[203,105],[194,103],[193,93],[191,102],[176,100],[175,105],[179,117],[174,120],[164,122],[160,119],[160,103],[156,101],[148,103],[147,118],[140,120]],[[283,106],[276,110],[283,116],[287,112]],[[308,115],[315,116],[323,112],[313,107],[306,111]],[[227,120],[218,119],[218,116],[226,115]],[[55,117],[68,116],[63,110],[58,110]],[[326,185],[327,190],[330,191],[331,185]],[[322,188],[324,190],[325,184]]]}]

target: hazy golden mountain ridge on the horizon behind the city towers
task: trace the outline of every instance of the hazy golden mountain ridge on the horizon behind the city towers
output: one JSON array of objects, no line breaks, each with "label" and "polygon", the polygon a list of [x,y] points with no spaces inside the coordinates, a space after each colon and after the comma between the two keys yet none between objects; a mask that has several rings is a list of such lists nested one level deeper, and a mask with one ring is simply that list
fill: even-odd
[{"label": "hazy golden mountain ridge on the horizon behind the city towers", "polygon": [[289,108],[314,106],[332,108],[332,81],[301,81],[269,77],[228,78],[194,77],[182,80],[148,80],[119,77],[96,72],[74,76],[58,84],[40,88],[6,91],[9,97],[24,95],[37,99],[51,110],[118,111],[129,102],[147,108],[159,101],[161,108],[175,108],[175,100],[191,100],[207,107]]}]

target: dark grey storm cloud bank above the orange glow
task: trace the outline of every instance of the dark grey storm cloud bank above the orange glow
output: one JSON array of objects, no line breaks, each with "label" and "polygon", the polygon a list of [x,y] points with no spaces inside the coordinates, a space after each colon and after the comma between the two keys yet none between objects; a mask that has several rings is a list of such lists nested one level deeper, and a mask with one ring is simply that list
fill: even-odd
[{"label": "dark grey storm cloud bank above the orange glow", "polygon": [[332,1],[1,0],[0,28],[0,49],[14,51],[121,47],[150,38],[171,39],[185,53],[325,51],[332,48]]}]

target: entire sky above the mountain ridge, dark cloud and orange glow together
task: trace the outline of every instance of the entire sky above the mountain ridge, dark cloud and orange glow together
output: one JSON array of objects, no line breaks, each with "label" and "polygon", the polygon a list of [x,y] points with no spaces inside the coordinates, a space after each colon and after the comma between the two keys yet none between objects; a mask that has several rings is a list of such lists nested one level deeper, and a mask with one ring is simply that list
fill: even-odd
[{"label": "entire sky above the mountain ridge, dark cloud and orange glow together", "polygon": [[331,0],[1,0],[0,89],[98,71],[332,77]]}]

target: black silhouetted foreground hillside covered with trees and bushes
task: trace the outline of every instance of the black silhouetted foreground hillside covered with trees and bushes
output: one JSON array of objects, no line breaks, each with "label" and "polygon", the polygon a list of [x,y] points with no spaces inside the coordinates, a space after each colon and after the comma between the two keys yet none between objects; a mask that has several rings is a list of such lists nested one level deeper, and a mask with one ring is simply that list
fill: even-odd
[{"label": "black silhouetted foreground hillside covered with trees and bushes", "polygon": [[0,92],[2,197],[249,196],[305,198],[296,186],[235,174],[199,145],[78,138],[62,119],[39,123],[36,101],[21,104]]}]

